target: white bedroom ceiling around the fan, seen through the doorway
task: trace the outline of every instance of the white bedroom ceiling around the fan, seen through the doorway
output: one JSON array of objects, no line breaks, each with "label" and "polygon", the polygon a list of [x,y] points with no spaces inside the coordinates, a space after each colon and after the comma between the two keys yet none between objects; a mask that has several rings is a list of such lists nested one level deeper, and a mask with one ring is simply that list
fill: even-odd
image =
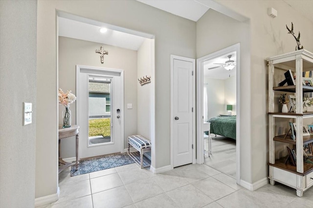
[{"label": "white bedroom ceiling around the fan, seen through the doorway", "polygon": [[221,57],[217,57],[214,59],[204,61],[204,63],[203,63],[203,75],[210,77],[210,78],[214,78],[214,79],[227,79],[229,77],[236,76],[236,66],[232,70],[226,70],[223,67],[208,70],[208,68],[219,66],[219,64],[215,64],[215,63],[224,64],[225,61],[229,60],[229,58],[227,57],[228,55],[231,55],[230,60],[234,60],[236,62],[236,52],[235,51],[232,53],[227,53]]}]

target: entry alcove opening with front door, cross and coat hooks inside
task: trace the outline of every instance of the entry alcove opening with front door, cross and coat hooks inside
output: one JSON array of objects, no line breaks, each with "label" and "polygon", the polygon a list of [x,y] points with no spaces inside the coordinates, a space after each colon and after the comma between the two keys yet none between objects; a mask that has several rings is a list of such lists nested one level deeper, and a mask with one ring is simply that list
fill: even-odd
[{"label": "entry alcove opening with front door, cross and coat hooks inside", "polygon": [[[77,101],[76,105],[72,106],[72,123],[76,120],[76,124],[80,126],[79,138],[85,137],[79,142],[79,158],[110,152],[125,152],[127,138],[134,133],[143,134],[154,144],[155,81],[152,79],[151,83],[144,87],[138,85],[137,81],[138,77],[155,75],[154,35],[62,11],[58,11],[57,17],[58,86],[75,89],[76,84],[84,83],[83,95],[80,94],[83,90],[79,88],[73,92],[77,95]],[[99,33],[101,27],[108,29],[106,34]],[[109,51],[109,55],[104,57],[104,63],[100,62],[100,55],[95,53],[95,50],[102,45]],[[90,67],[76,65],[77,63]],[[75,71],[72,70],[75,66],[76,80]],[[77,76],[79,74],[77,70],[82,72],[80,76]],[[124,76],[124,70],[128,74],[127,77]],[[107,74],[104,74],[104,71]],[[109,88],[109,90],[103,89],[99,92],[92,89],[94,87],[92,85],[100,85],[101,88]],[[124,90],[125,94],[120,93],[120,90]],[[79,100],[84,100],[85,103],[81,105]],[[121,103],[119,106],[117,106],[118,102]],[[124,102],[127,105],[124,105]],[[148,112],[149,116],[137,119],[139,117],[137,114],[142,112]],[[84,118],[79,121],[82,116]],[[150,124],[149,128],[147,124]],[[98,126],[101,127],[96,128]],[[120,126],[120,130],[117,130],[117,126]],[[73,139],[68,139],[65,143],[61,154],[68,161],[72,161]],[[153,145],[151,152],[152,164],[154,164],[154,147]]]}]

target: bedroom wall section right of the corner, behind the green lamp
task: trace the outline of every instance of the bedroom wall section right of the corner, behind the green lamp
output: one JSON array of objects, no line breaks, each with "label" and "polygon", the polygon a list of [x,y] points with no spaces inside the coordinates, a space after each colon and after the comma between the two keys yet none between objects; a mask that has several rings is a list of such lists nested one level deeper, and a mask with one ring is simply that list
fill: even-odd
[{"label": "bedroom wall section right of the corner, behind the green lamp", "polygon": [[[233,69],[235,70],[235,69]],[[226,111],[226,105],[232,105],[233,110],[232,113],[233,115],[236,115],[236,76],[229,77],[224,80],[224,95],[225,95],[225,106],[224,106],[224,112],[228,113]]]}]

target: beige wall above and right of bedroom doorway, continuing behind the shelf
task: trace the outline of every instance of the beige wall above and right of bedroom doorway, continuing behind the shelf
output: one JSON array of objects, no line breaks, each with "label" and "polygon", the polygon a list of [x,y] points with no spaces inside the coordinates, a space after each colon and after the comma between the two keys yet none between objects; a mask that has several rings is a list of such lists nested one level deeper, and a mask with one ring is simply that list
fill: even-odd
[{"label": "beige wall above and right of bedroom doorway, continuing behind the shelf", "polygon": [[[313,24],[283,1],[218,2],[249,20],[240,23],[209,10],[197,22],[197,57],[241,43],[241,179],[255,183],[268,176],[268,68],[265,59],[294,51],[295,41],[286,29],[291,21],[294,29],[301,31],[301,44],[312,51]],[[268,7],[275,8],[278,17],[270,18]],[[225,33],[225,28],[231,32]]]}]

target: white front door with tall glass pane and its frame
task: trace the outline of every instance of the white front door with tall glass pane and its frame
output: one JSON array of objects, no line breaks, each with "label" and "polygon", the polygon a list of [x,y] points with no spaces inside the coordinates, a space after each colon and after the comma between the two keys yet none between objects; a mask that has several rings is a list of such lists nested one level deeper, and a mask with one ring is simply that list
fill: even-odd
[{"label": "white front door with tall glass pane and its frame", "polygon": [[123,71],[77,66],[80,158],[123,152]]}]

